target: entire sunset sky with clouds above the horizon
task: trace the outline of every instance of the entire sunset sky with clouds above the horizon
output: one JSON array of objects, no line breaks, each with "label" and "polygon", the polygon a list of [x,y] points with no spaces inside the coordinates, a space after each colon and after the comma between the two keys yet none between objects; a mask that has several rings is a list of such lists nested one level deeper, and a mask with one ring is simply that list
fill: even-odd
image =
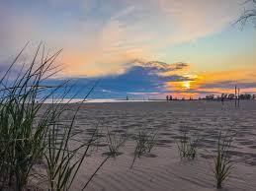
[{"label": "entire sunset sky with clouds above the horizon", "polygon": [[[29,41],[59,49],[80,96],[199,97],[256,94],[256,28],[235,24],[245,0],[0,0],[0,74]],[[253,7],[254,6],[254,7]],[[21,61],[21,62],[22,62]]]}]

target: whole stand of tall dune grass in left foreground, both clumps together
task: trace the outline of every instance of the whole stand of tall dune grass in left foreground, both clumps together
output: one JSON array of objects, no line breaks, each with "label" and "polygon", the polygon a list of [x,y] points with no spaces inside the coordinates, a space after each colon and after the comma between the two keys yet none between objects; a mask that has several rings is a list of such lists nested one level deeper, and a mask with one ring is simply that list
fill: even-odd
[{"label": "whole stand of tall dune grass in left foreground, both clumps together", "polygon": [[[72,130],[81,104],[66,122],[63,113],[70,113],[68,103],[73,97],[63,103],[71,90],[68,81],[56,86],[45,83],[58,72],[54,60],[61,50],[45,55],[40,44],[32,62],[13,73],[19,68],[17,62],[25,47],[0,78],[0,190],[26,190],[39,162],[45,166],[46,172],[41,174],[47,179],[45,189],[68,190],[97,139],[97,128],[89,141],[77,144],[77,133]],[[49,98],[52,103],[44,104]]]}]

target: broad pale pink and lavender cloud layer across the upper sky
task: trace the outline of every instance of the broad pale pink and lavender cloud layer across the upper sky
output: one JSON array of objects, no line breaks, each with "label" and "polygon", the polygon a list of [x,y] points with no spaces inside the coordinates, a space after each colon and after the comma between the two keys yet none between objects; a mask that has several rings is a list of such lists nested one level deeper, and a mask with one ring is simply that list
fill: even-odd
[{"label": "broad pale pink and lavender cloud layer across the upper sky", "polygon": [[123,63],[132,59],[157,60],[160,50],[166,46],[221,31],[239,15],[241,6],[237,2],[1,2],[0,55],[1,59],[6,59],[26,41],[43,40],[49,47],[64,49],[63,76],[121,74]]}]

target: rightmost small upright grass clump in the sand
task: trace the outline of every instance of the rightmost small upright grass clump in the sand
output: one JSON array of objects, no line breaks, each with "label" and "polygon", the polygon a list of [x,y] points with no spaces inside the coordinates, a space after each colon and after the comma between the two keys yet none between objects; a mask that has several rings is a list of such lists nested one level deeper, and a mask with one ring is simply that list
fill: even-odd
[{"label": "rightmost small upright grass clump in the sand", "polygon": [[218,134],[216,156],[214,160],[214,177],[216,188],[220,189],[222,183],[229,176],[233,167],[232,160],[229,159],[228,152],[232,143],[232,136],[222,136],[221,131]]}]

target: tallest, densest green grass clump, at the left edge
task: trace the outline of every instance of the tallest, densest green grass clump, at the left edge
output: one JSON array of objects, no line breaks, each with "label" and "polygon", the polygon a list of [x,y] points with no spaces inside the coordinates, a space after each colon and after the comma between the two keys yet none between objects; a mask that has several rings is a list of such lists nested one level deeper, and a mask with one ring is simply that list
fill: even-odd
[{"label": "tallest, densest green grass clump, at the left edge", "polygon": [[43,81],[54,74],[52,63],[60,51],[38,65],[39,46],[31,64],[14,76],[11,72],[23,50],[0,79],[0,190],[24,190],[34,164],[42,159],[49,121],[46,112],[44,118],[38,115],[58,89]]}]

